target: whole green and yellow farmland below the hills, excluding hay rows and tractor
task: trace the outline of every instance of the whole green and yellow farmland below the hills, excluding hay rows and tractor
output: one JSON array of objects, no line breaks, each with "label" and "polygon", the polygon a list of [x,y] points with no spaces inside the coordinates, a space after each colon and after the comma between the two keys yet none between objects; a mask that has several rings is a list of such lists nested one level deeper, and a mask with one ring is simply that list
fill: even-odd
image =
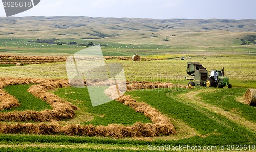
[{"label": "whole green and yellow farmland below the hills, excluding hay rows and tractor", "polygon": [[[152,119],[144,113],[137,112],[130,106],[115,100],[92,107],[87,88],[72,88],[65,85],[63,88],[45,90],[45,92],[54,94],[61,100],[77,107],[74,109],[75,116],[53,121],[46,118],[47,121],[42,122],[2,120],[1,125],[15,125],[17,123],[19,125],[29,123],[30,127],[49,125],[53,132],[41,135],[40,132],[35,131],[38,134],[32,134],[26,132],[29,129],[28,126],[27,128],[19,128],[20,132],[18,129],[13,129],[12,132],[0,134],[0,151],[149,151],[153,146],[161,148],[165,145],[174,147],[180,145],[200,146],[201,148],[208,148],[208,151],[221,151],[220,148],[223,145],[225,145],[225,150],[236,151],[236,145],[242,145],[241,151],[255,151],[256,111],[255,107],[243,103],[246,90],[256,88],[255,45],[240,45],[241,41],[234,37],[232,37],[230,44],[219,46],[216,44],[189,46],[193,41],[189,41],[187,45],[177,46],[165,45],[164,43],[146,44],[146,42],[145,44],[125,44],[106,42],[100,39],[93,41],[95,44],[106,45],[102,46],[103,54],[110,56],[106,58],[106,63],[122,64],[126,80],[130,82],[171,82],[174,84],[172,88],[132,90],[126,92],[125,95],[130,95],[139,103],[146,103],[163,114],[173,123],[177,132],[176,135],[115,138],[114,136],[69,135],[66,132],[55,131],[54,127],[56,126],[66,127],[74,124],[79,127],[101,125],[102,128],[107,128],[109,124],[119,124],[126,127],[132,126],[136,122],[154,124]],[[6,38],[0,40],[0,44],[2,43],[0,54],[27,57],[22,57],[24,60],[15,59],[13,56],[2,58],[0,77],[67,79],[66,66],[63,60],[73,53],[87,48],[84,46],[29,43],[29,40],[35,39]],[[202,40],[202,37],[198,40]],[[72,41],[74,39],[58,40],[58,42]],[[79,39],[76,41],[87,43],[91,40]],[[133,62],[131,57],[134,54],[141,55],[142,61]],[[40,57],[33,61],[34,58],[29,58],[31,56]],[[51,56],[51,58],[49,57],[48,60],[41,56]],[[180,60],[182,56],[185,57],[184,61]],[[61,57],[61,60],[55,57]],[[192,59],[190,60],[189,57]],[[15,66],[15,63],[19,61],[24,61],[25,66]],[[224,67],[225,76],[229,77],[233,88],[180,88],[180,85],[187,85],[188,83],[184,78],[187,76],[186,65],[188,61],[200,62],[207,70]],[[3,82],[1,82],[1,86],[2,84]],[[41,99],[28,92],[28,89],[34,85],[35,83],[24,83],[1,88],[1,91],[8,92],[15,97],[20,106],[4,109],[0,112],[3,114],[20,112],[22,114],[27,110],[38,113],[44,110],[55,110],[55,107],[48,103],[51,100],[46,102],[45,97],[40,96],[40,93],[38,96]],[[51,88],[51,85],[48,85]],[[0,97],[2,95],[0,94]],[[7,132],[3,129],[0,130]],[[72,129],[69,129],[69,132],[71,131]],[[233,148],[231,145],[235,147]],[[178,149],[177,151],[189,151],[189,149]]]}]

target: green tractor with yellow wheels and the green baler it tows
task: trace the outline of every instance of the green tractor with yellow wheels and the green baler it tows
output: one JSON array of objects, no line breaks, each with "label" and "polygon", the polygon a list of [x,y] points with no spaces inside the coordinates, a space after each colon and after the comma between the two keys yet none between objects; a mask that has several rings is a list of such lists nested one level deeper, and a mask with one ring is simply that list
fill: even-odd
[{"label": "green tractor with yellow wheels and the green baler it tows", "polygon": [[211,70],[210,73],[199,62],[187,62],[187,80],[194,80],[188,83],[189,86],[206,86],[223,88],[228,86],[232,88],[228,77],[224,76],[224,68],[222,70]]}]

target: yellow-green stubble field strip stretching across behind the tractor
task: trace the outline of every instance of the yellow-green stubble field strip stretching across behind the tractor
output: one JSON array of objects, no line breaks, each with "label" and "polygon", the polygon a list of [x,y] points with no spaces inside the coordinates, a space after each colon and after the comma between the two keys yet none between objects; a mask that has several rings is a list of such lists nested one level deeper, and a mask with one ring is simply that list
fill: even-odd
[{"label": "yellow-green stubble field strip stretching across behind the tractor", "polygon": [[[170,55],[171,56],[171,55]],[[250,60],[248,62],[248,60]],[[254,67],[256,58],[253,55],[241,57],[224,55],[223,57],[213,56],[203,59],[193,57],[193,60],[203,64],[207,70],[225,68],[225,75],[229,77],[234,87],[255,87]],[[107,60],[106,63],[120,63],[124,67],[126,79],[129,81],[162,81],[187,84],[186,62],[180,60],[158,60],[133,62],[132,60]],[[145,68],[146,67],[146,68]],[[64,62],[47,63],[19,67],[0,68],[0,77],[37,77],[37,78],[67,78]]]}]

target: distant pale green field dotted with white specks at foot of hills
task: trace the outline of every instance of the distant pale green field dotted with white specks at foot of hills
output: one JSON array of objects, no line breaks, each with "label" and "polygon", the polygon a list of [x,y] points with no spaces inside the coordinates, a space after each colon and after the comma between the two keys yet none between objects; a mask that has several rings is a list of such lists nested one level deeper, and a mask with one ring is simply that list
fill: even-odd
[{"label": "distant pale green field dotted with white specks at foot of hills", "polygon": [[[205,33],[204,33],[205,34]],[[219,33],[221,34],[221,33]],[[227,35],[226,35],[227,36]],[[239,37],[239,36],[238,36]],[[178,40],[182,40],[182,37]],[[105,40],[84,40],[84,39],[60,39],[57,42],[77,42],[77,44],[87,44],[93,42],[94,45],[106,45],[101,46],[104,56],[132,56],[139,54],[141,56],[152,55],[167,55],[167,54],[190,54],[190,55],[218,55],[218,54],[254,54],[256,53],[255,44],[240,45],[238,39],[232,38],[232,41],[226,42],[226,44],[216,45],[215,41],[207,39],[208,45],[194,45],[193,40],[198,37],[191,37],[187,40],[187,44],[156,44],[154,42],[139,42],[139,43],[124,43],[124,42],[108,42]],[[226,37],[225,37],[226,38]],[[225,39],[221,38],[221,39]],[[70,56],[71,54],[88,48],[80,45],[57,45],[28,42],[36,39],[0,39],[0,54],[14,54],[14,55],[30,55],[30,56]],[[202,44],[204,44],[202,42]],[[212,42],[212,43],[211,43]]]}]

